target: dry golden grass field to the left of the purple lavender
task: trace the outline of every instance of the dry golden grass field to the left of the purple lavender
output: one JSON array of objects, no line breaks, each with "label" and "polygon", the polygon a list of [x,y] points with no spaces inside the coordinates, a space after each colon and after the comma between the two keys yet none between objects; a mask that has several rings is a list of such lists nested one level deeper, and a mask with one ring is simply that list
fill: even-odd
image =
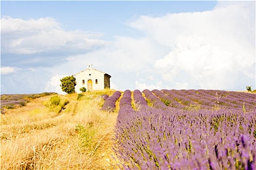
[{"label": "dry golden grass field to the left of the purple lavender", "polygon": [[114,91],[84,92],[79,100],[78,94],[58,95],[66,104],[61,107],[50,106],[51,95],[7,109],[1,114],[0,169],[117,169],[112,138],[118,113],[100,110],[100,96]]}]

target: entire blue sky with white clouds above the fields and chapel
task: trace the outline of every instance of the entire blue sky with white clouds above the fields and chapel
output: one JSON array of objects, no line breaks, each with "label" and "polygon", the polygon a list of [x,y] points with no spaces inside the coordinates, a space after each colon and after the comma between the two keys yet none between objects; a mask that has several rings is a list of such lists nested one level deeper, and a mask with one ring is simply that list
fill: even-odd
[{"label": "entire blue sky with white clouds above the fields and chapel", "polygon": [[255,1],[0,1],[1,94],[61,91],[92,64],[112,89],[256,88]]}]

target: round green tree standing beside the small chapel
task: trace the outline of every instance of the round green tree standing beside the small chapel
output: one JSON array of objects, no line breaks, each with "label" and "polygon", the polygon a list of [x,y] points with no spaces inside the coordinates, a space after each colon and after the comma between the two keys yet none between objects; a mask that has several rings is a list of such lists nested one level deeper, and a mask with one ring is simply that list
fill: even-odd
[{"label": "round green tree standing beside the small chapel", "polygon": [[76,78],[74,75],[63,77],[60,79],[61,82],[61,89],[62,91],[66,92],[67,94],[75,93],[75,86],[77,85]]}]

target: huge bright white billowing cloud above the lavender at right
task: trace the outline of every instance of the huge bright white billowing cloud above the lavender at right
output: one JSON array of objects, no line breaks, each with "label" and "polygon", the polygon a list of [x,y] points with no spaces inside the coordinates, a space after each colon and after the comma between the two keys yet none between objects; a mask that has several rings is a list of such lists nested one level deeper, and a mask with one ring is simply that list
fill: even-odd
[{"label": "huge bright white billowing cloud above the lavender at right", "polygon": [[255,71],[247,69],[256,55],[255,2],[219,2],[212,11],[141,16],[129,25],[169,46],[169,54],[157,59],[154,68],[175,88],[236,89],[255,82]]}]

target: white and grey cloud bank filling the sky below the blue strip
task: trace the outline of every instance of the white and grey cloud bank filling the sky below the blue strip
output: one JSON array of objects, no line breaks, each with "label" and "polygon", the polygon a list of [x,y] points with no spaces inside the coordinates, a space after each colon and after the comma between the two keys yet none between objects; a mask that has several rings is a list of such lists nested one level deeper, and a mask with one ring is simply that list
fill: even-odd
[{"label": "white and grey cloud bank filling the sky below the blue strip", "polygon": [[131,18],[106,41],[107,33],[68,31],[53,17],[3,17],[1,93],[61,93],[61,76],[87,64],[110,74],[118,90],[256,88],[255,1]]}]

